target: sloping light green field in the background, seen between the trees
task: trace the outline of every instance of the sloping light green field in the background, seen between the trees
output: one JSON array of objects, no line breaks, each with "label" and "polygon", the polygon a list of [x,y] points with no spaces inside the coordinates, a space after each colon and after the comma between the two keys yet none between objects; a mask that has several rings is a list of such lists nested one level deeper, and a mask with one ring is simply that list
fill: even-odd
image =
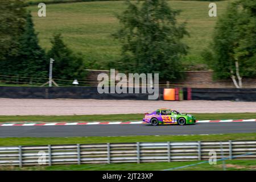
[{"label": "sloping light green field in the background, seen between the trees", "polygon": [[[217,16],[221,16],[229,1],[215,2]],[[183,63],[204,64],[200,52],[208,46],[217,17],[209,17],[209,2],[202,1],[168,1],[173,9],[182,10],[179,22],[187,22],[189,37],[184,42],[191,49],[184,57]],[[91,61],[92,68],[105,69],[105,63],[120,57],[121,45],[113,40],[111,34],[119,24],[115,14],[125,9],[123,1],[78,2],[47,5],[47,17],[37,16],[38,7],[30,6],[34,16],[36,31],[39,32],[43,48],[51,47],[53,33],[61,32],[64,42],[75,52],[82,52],[85,61]]]}]

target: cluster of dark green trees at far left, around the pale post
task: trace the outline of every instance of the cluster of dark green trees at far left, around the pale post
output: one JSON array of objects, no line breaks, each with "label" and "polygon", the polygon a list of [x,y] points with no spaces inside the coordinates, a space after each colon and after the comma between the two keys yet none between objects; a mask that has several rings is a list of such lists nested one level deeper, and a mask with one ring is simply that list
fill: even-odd
[{"label": "cluster of dark green trees at far left, around the pale post", "polygon": [[[27,80],[22,77],[46,81],[49,58],[52,57],[55,60],[53,76],[66,80],[84,78],[82,57],[63,43],[60,34],[53,36],[48,52],[39,46],[32,16],[23,1],[0,1],[0,7],[0,75],[19,76],[20,82]],[[11,77],[6,79],[11,80]]]}]

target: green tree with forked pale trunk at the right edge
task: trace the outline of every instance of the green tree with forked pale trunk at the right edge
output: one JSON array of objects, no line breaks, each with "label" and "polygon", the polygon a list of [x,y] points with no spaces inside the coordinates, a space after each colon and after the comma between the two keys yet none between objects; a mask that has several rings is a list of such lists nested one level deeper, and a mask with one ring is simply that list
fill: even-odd
[{"label": "green tree with forked pale trunk at the right edge", "polygon": [[243,77],[256,76],[256,2],[231,3],[216,24],[211,48],[205,60],[216,78],[232,78],[236,88]]}]

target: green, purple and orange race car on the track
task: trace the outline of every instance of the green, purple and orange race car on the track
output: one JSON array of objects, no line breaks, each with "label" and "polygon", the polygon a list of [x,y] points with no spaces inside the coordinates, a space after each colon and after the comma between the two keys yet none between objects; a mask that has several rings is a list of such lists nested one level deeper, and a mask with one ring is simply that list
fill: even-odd
[{"label": "green, purple and orange race car on the track", "polygon": [[176,110],[158,109],[151,114],[145,113],[144,122],[151,123],[152,126],[157,125],[190,125],[196,123],[196,118],[190,114],[181,114]]}]

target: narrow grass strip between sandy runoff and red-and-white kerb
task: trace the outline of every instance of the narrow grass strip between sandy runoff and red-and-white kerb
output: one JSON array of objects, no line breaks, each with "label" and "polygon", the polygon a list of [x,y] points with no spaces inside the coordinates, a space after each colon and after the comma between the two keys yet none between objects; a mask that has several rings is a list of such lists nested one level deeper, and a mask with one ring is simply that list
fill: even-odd
[{"label": "narrow grass strip between sandy runoff and red-and-white kerb", "polygon": [[[198,120],[205,119],[254,119],[256,113],[192,113]],[[142,121],[144,114],[96,115],[0,115],[0,122],[73,122],[73,121]]]}]

